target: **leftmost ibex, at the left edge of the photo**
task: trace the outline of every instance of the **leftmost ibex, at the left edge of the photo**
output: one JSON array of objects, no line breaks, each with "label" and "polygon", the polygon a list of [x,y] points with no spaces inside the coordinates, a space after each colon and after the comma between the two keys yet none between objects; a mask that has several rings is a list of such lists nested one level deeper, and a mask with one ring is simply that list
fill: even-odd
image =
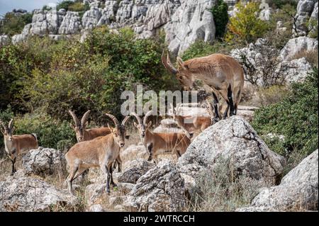
[{"label": "leftmost ibex, at the left edge of the photo", "polygon": [[13,135],[15,130],[13,127],[13,119],[10,120],[8,126],[6,126],[2,120],[0,120],[0,124],[3,127],[1,128],[1,132],[4,135],[4,148],[12,162],[11,175],[13,175],[16,171],[14,164],[16,163],[18,155],[28,152],[30,149],[37,149],[38,139],[34,133],[30,135]]}]

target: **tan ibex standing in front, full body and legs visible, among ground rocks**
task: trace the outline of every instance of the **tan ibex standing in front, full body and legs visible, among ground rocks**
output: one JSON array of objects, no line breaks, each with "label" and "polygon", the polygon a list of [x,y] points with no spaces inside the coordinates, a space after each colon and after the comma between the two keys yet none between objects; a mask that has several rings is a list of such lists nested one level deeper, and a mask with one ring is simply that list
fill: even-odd
[{"label": "tan ibex standing in front, full body and legs visible, among ground rocks", "polygon": [[126,116],[120,124],[115,116],[106,114],[113,120],[115,128],[108,125],[111,133],[103,137],[96,137],[93,140],[86,140],[75,144],[65,154],[67,165],[69,166],[69,176],[67,182],[69,192],[72,191],[72,181],[80,176],[86,169],[91,167],[100,167],[101,171],[106,175],[106,191],[110,192],[111,185],[116,186],[113,182],[112,164],[116,160],[121,168],[120,149],[125,145],[125,123],[130,116]]}]

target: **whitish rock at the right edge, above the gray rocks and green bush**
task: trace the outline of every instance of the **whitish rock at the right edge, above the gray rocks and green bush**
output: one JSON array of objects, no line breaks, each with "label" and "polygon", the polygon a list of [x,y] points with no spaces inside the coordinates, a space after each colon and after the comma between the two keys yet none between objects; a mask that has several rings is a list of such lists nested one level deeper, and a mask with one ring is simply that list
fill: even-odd
[{"label": "whitish rock at the right edge, above the gray rocks and green bush", "polygon": [[292,38],[286,43],[280,52],[283,61],[292,60],[298,52],[318,50],[318,40],[315,38],[298,37]]}]

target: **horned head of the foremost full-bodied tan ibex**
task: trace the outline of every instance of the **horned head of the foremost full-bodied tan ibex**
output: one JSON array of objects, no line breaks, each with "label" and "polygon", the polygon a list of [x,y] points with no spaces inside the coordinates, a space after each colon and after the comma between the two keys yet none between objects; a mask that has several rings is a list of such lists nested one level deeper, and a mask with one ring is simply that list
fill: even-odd
[{"label": "horned head of the foremost full-bodied tan ibex", "polygon": [[114,115],[108,113],[106,113],[106,115],[111,118],[111,120],[113,120],[113,123],[115,124],[115,128],[112,128],[110,125],[108,125],[108,128],[113,135],[113,139],[118,144],[118,146],[124,147],[125,138],[128,138],[128,136],[126,136],[125,123],[128,121],[128,118],[130,118],[130,116],[126,116],[120,124]]}]

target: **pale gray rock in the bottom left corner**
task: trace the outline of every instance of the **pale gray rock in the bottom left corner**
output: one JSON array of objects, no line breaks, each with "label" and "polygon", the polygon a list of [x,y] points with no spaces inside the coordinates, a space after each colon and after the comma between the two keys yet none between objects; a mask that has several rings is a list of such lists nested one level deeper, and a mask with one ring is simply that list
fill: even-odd
[{"label": "pale gray rock in the bottom left corner", "polygon": [[5,181],[0,181],[1,211],[52,211],[55,208],[74,210],[77,198],[67,191],[17,171]]}]

